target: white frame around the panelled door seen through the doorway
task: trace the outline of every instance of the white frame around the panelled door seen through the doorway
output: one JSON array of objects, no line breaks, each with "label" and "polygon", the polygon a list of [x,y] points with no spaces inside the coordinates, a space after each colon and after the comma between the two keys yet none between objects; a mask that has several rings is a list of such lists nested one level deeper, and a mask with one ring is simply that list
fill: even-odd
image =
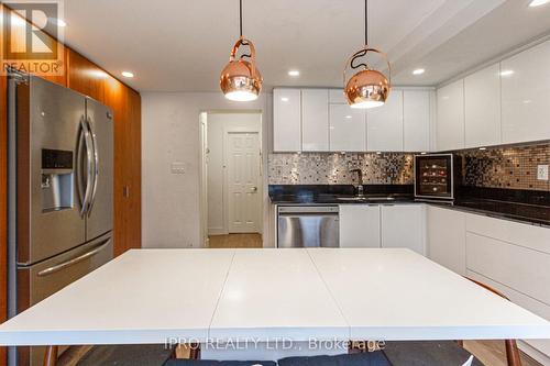
[{"label": "white frame around the panelled door seen through the doorway", "polygon": [[261,134],[261,129],[256,129],[256,131],[253,131],[253,129],[249,127],[223,127],[223,231],[229,234],[229,144],[228,140],[230,134],[234,133],[254,133],[257,135],[257,146],[260,147],[258,152],[258,177],[257,177],[257,212],[256,212],[256,219],[257,219],[257,230],[256,232],[262,234],[263,233],[263,215],[262,215],[262,197],[263,197],[263,169],[262,169],[262,134]]}]

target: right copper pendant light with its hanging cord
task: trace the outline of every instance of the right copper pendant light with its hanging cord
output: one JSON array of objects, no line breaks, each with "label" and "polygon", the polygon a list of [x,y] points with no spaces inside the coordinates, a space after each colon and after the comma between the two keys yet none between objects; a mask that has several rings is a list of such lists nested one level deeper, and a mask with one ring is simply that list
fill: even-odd
[{"label": "right copper pendant light with its hanging cord", "polygon": [[[385,53],[369,47],[369,0],[365,0],[365,46],[351,55],[344,66],[343,84],[344,96],[348,104],[351,108],[374,108],[383,106],[389,96],[392,88],[392,68]],[[369,53],[382,55],[387,64],[388,77],[381,71],[369,66],[367,62],[355,65],[355,60],[361,57],[366,57]],[[348,82],[345,82],[345,70],[348,67],[352,69],[362,68],[355,73]]]}]

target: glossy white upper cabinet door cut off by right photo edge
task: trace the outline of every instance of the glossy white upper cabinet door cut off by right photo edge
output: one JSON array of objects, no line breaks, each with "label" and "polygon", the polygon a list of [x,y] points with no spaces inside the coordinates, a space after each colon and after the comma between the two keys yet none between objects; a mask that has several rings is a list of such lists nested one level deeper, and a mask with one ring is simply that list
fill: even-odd
[{"label": "glossy white upper cabinet door cut off by right photo edge", "polygon": [[550,41],[501,63],[503,143],[550,138]]}]

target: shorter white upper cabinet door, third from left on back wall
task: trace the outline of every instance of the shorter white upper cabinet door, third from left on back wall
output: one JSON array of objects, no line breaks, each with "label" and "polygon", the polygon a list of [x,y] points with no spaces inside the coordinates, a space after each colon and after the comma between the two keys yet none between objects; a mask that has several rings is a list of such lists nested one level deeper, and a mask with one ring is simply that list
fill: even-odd
[{"label": "shorter white upper cabinet door, third from left on back wall", "polygon": [[365,112],[348,104],[330,104],[330,151],[366,151]]}]

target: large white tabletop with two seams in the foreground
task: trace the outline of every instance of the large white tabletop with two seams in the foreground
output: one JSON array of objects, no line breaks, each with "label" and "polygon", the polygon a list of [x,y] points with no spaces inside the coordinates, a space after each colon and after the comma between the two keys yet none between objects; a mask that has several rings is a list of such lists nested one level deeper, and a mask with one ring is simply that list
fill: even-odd
[{"label": "large white tabletop with two seams in the foreground", "polygon": [[408,249],[130,251],[0,325],[0,345],[550,339]]}]

